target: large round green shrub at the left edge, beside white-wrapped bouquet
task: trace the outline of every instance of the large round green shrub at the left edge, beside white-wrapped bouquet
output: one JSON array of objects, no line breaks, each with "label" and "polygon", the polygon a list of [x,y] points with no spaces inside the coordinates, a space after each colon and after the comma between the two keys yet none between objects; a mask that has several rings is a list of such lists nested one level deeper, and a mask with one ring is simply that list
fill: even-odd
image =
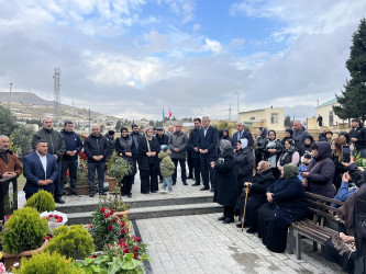
[{"label": "large round green shrub at the left edge, beside white-wrapped bouquet", "polygon": [[25,250],[37,249],[44,242],[43,237],[48,232],[47,220],[32,207],[14,212],[5,222],[1,233],[2,248],[7,253],[19,254]]}]

